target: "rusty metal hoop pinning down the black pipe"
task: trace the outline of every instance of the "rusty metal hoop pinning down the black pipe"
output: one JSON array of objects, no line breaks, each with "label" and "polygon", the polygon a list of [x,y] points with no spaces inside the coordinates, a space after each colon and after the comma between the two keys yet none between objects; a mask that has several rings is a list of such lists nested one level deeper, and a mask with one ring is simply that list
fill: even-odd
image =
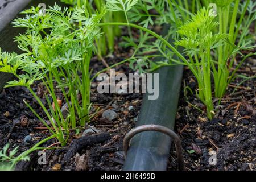
[{"label": "rusty metal hoop pinning down the black pipe", "polygon": [[133,138],[138,133],[142,133],[144,131],[158,131],[160,133],[164,133],[168,135],[169,137],[174,139],[175,148],[177,152],[177,162],[179,164],[179,170],[184,171],[185,165],[183,160],[183,153],[182,153],[182,146],[181,146],[181,140],[179,136],[172,130],[168,129],[167,127],[160,126],[160,125],[142,125],[138,126],[135,129],[132,129],[125,135],[125,138],[123,139],[123,151],[125,152],[125,156],[127,155],[127,151],[129,148],[129,143],[131,138]]}]

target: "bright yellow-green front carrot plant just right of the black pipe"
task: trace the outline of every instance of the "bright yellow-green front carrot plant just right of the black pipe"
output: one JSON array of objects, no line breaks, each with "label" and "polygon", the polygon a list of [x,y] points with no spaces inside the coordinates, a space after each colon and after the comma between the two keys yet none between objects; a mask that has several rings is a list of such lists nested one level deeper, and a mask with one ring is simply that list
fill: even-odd
[{"label": "bright yellow-green front carrot plant just right of the black pipe", "polygon": [[210,68],[213,60],[210,52],[213,48],[220,47],[228,38],[226,34],[213,33],[218,22],[214,16],[209,15],[208,9],[201,9],[191,20],[179,28],[181,40],[176,42],[177,46],[185,48],[189,57],[189,64],[196,72],[193,74],[197,78],[199,85],[199,98],[207,106],[207,115],[212,118],[213,103],[210,80]]}]

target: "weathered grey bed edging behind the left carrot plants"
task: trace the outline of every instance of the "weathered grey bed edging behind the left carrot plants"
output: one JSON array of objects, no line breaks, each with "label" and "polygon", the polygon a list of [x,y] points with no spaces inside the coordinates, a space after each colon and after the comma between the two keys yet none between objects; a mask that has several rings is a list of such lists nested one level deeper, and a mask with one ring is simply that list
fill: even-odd
[{"label": "weathered grey bed edging behind the left carrot plants", "polygon": [[[11,26],[13,20],[20,11],[28,9],[31,6],[38,6],[44,2],[46,6],[53,6],[53,0],[0,0],[0,47],[2,51],[19,52],[17,44],[14,42],[14,37],[22,33],[22,28],[14,28]],[[18,15],[20,16],[20,15]],[[9,73],[0,72],[0,90],[9,81],[12,75]]]}]

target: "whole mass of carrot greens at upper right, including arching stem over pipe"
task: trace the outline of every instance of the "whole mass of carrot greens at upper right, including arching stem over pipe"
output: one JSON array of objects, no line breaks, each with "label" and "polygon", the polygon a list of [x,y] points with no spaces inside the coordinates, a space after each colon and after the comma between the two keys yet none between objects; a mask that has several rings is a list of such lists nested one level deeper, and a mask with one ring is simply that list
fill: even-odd
[{"label": "whole mass of carrot greens at upper right, including arching stem over pipe", "polygon": [[[212,118],[214,107],[211,77],[214,78],[215,96],[220,99],[243,61],[254,55],[250,53],[244,56],[241,51],[255,47],[255,40],[250,35],[249,28],[256,18],[256,3],[250,0],[245,2],[240,0],[193,0],[192,2],[147,0],[134,3],[127,12],[119,1],[107,2],[114,3],[109,6],[109,10],[122,9],[129,15],[127,24],[119,23],[119,25],[142,30],[139,39],[130,36],[125,38],[126,43],[123,44],[125,47],[134,47],[134,54],[128,59],[130,67],[144,72],[145,69],[153,71],[166,65],[187,65],[199,84],[197,96],[207,106],[208,117]],[[210,3],[216,3],[217,17],[210,14],[208,9]],[[196,10],[199,11],[194,15]],[[150,14],[152,11],[154,14]],[[150,30],[150,26],[163,24],[170,26],[164,38]],[[106,25],[108,24],[104,24]],[[158,40],[154,42],[151,35]],[[175,46],[167,42],[170,38],[177,40]],[[185,48],[184,53],[188,56],[188,60],[178,51],[179,47]],[[242,55],[242,61],[232,72],[230,69],[238,53]],[[166,61],[152,62],[152,59],[159,57]]]}]

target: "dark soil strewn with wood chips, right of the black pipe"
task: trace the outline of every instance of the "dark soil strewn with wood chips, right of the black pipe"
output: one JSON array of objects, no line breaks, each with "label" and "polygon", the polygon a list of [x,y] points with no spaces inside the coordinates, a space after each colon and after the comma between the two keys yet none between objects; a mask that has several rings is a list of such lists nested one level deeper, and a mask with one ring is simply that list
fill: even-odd
[{"label": "dark soil strewn with wood chips, right of the black pipe", "polygon": [[[238,74],[255,76],[256,57],[240,68]],[[195,93],[196,82],[185,69],[184,83]],[[215,102],[216,115],[208,121],[205,107],[191,93],[181,90],[177,111],[176,131],[183,140],[187,170],[256,170],[256,84],[255,78],[234,86],[243,80],[237,78],[229,85],[220,105]],[[193,106],[192,106],[193,105]],[[217,164],[210,165],[209,152],[216,152]],[[212,153],[213,154],[213,153]],[[168,169],[175,170],[176,155],[172,151]]]}]

